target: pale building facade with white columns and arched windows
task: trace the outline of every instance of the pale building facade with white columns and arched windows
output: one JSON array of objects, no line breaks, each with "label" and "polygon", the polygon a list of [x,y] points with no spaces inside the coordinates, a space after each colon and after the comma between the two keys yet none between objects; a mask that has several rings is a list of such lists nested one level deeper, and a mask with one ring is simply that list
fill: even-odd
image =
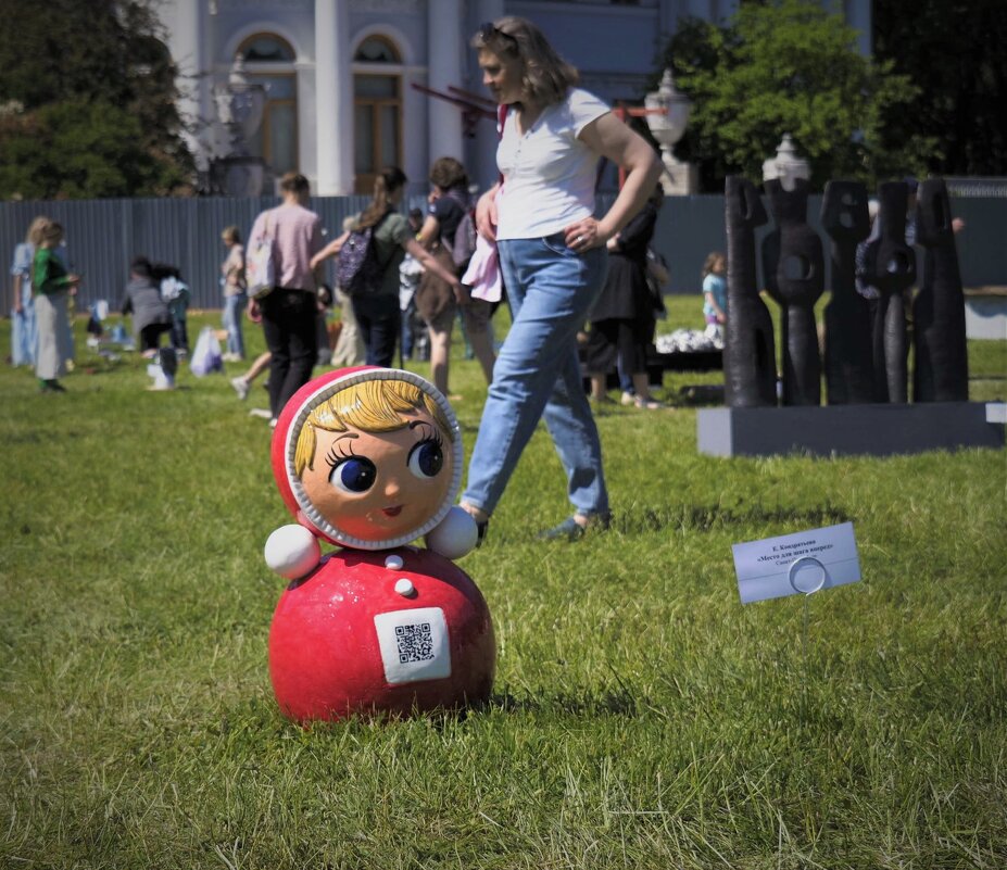
[{"label": "pale building facade with white columns and arched windows", "polygon": [[[612,103],[637,103],[678,20],[718,21],[738,2],[163,0],[159,11],[201,169],[227,155],[215,93],[240,55],[248,80],[266,88],[250,153],[275,178],[297,171],[315,194],[344,196],[369,193],[385,165],[401,166],[414,192],[425,189],[430,164],[444,155],[460,159],[480,187],[492,184],[494,121],[429,93],[486,97],[469,48],[483,22],[532,20],[584,87]],[[843,12],[867,52],[870,0],[844,0]]]}]

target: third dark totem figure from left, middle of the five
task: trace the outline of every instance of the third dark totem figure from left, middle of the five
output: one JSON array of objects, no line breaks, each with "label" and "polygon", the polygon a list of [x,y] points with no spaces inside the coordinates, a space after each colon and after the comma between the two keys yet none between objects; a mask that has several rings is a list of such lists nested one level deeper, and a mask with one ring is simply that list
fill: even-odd
[{"label": "third dark totem figure from left, middle of the five", "polygon": [[870,234],[867,187],[829,181],[821,201],[821,225],[832,239],[826,305],[826,393],[830,405],[873,401],[874,365],[870,305],[856,288],[857,243]]}]

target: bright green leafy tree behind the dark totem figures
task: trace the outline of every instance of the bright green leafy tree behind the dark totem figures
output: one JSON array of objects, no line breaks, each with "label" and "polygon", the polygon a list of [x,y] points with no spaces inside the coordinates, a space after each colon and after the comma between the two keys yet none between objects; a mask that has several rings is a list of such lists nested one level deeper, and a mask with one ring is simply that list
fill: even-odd
[{"label": "bright green leafy tree behind the dark totem figures", "polygon": [[703,189],[722,190],[731,174],[760,181],[784,133],[810,163],[814,188],[919,171],[932,143],[885,137],[892,108],[918,89],[891,63],[863,56],[856,37],[817,0],[743,3],[725,26],[681,21],[663,67],[693,101],[676,150],[698,164]]}]

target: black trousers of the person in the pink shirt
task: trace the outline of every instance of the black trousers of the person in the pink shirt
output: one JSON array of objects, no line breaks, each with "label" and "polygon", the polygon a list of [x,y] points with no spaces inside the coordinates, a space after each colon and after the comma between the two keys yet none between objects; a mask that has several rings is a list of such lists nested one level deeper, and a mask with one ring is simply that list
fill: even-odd
[{"label": "black trousers of the person in the pink shirt", "polygon": [[269,409],[278,417],[311,380],[318,356],[317,304],[306,290],[276,288],[259,303],[269,360]]}]

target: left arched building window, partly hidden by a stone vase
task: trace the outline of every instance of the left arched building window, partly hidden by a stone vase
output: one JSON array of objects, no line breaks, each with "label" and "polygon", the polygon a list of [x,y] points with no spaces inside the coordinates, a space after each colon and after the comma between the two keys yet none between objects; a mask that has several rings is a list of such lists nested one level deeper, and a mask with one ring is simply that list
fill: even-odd
[{"label": "left arched building window, partly hidden by a stone vase", "polygon": [[238,48],[244,56],[246,76],[266,88],[262,124],[249,141],[249,151],[265,160],[276,175],[298,169],[297,55],[290,45],[273,34],[256,34]]}]

